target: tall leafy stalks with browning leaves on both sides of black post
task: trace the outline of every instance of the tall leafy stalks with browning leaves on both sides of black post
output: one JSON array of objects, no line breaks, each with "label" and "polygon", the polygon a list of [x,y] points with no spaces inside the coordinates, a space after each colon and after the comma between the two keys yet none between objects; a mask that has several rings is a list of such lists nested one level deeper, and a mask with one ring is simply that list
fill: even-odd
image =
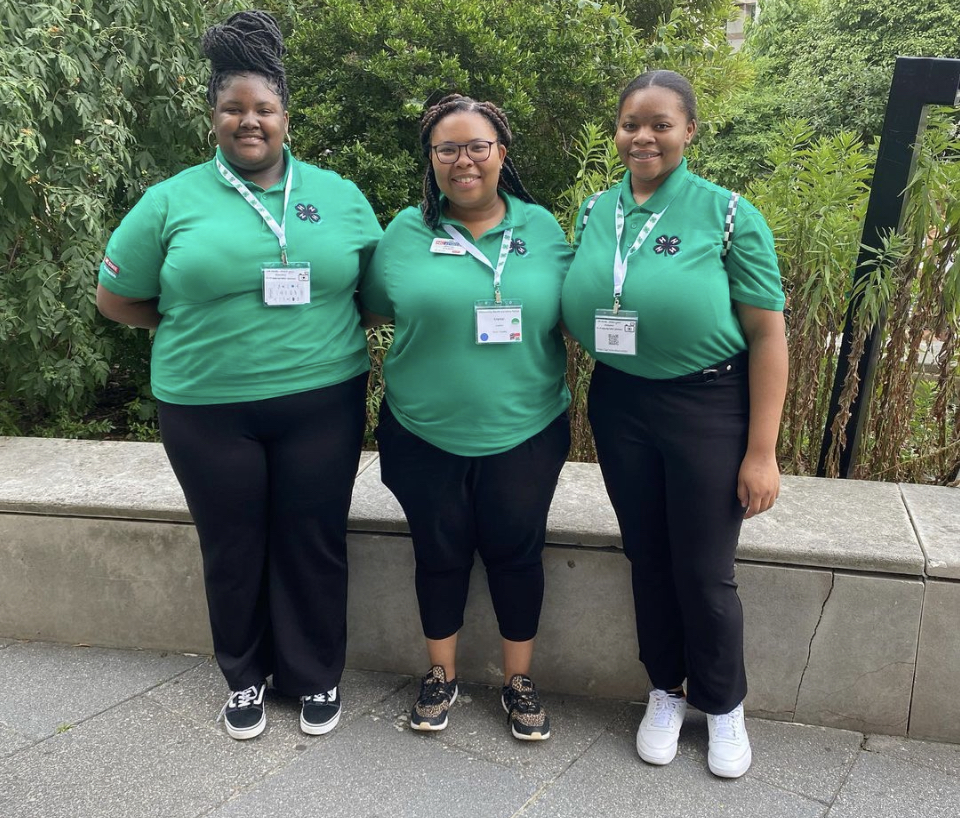
[{"label": "tall leafy stalks with browning leaves on both sides of black post", "polygon": [[[780,441],[794,473],[817,464],[836,353],[851,299],[859,300],[851,361],[877,328],[882,349],[857,475],[946,482],[960,465],[960,137],[957,114],[932,118],[910,183],[902,229],[851,287],[861,250],[875,148],[841,131],[817,137],[788,122],[767,161],[773,170],[750,185],[776,237],[787,292],[791,380]],[[936,356],[929,350],[939,352]],[[927,361],[924,362],[924,355]],[[842,441],[857,396],[856,367],[843,385],[834,436]],[[828,458],[835,470],[837,450]],[[835,473],[835,472],[834,472]]]}]

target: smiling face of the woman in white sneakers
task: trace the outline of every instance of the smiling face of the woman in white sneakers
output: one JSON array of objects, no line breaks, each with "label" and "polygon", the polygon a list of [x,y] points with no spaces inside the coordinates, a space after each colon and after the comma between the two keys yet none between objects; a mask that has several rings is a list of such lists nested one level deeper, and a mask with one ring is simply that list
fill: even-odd
[{"label": "smiling face of the woman in white sneakers", "polygon": [[697,132],[676,91],[651,85],[620,106],[615,141],[620,161],[630,171],[634,195],[645,200],[680,164]]}]

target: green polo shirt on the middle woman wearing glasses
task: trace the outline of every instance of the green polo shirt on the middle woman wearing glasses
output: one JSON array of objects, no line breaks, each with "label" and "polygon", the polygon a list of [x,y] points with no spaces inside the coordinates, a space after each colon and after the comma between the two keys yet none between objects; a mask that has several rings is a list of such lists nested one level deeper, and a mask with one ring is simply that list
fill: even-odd
[{"label": "green polo shirt on the middle woman wearing glasses", "polygon": [[520,343],[476,343],[474,304],[493,298],[493,271],[470,255],[431,252],[434,239],[450,238],[445,223],[470,233],[445,218],[431,230],[419,208],[387,227],[360,288],[367,309],[396,323],[383,370],[391,411],[413,434],[465,457],[512,449],[570,402],[558,322],[572,253],[550,213],[501,195],[503,221],[473,243],[495,266],[513,228],[500,288],[523,302]]}]

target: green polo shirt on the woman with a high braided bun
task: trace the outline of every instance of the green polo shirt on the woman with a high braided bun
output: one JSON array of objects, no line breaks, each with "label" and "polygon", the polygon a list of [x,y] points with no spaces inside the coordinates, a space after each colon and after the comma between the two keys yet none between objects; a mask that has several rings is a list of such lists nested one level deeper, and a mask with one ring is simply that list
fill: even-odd
[{"label": "green polo shirt on the woman with a high braided bun", "polygon": [[[111,236],[100,283],[160,299],[151,383],[161,400],[260,400],[369,368],[354,292],[383,231],[356,185],[287,155],[287,256],[310,262],[309,304],[264,304],[261,264],[280,261],[279,242],[213,161],[149,188]],[[247,183],[278,223],[284,182]]]}]

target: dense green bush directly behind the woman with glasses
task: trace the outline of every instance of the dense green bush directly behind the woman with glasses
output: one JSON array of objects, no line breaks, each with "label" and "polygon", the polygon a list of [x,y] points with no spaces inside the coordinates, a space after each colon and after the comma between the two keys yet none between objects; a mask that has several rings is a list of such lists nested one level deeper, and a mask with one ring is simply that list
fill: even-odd
[{"label": "dense green bush directly behind the woman with glasses", "polygon": [[294,146],[353,179],[381,219],[419,201],[424,105],[451,92],[502,107],[524,182],[550,203],[582,122],[610,118],[645,52],[622,11],[589,0],[325,0],[288,41]]}]

